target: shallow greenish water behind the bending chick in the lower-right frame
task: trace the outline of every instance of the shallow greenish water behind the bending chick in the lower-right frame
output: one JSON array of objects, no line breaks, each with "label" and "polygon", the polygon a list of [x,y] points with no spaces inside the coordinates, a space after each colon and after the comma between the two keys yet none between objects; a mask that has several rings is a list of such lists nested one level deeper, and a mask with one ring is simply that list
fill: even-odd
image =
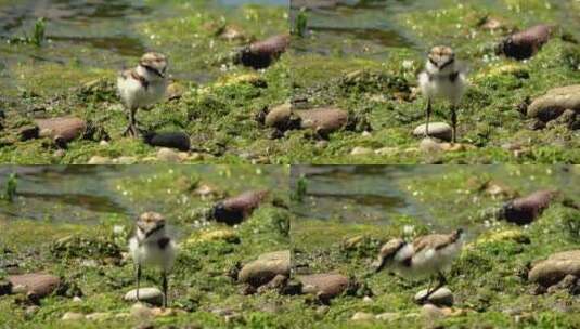
[{"label": "shallow greenish water behind the bending chick in the lower-right frame", "polygon": [[[539,168],[539,169],[538,169]],[[537,172],[542,167],[538,167]],[[547,168],[553,174],[545,182],[538,182],[525,168],[511,166],[296,166],[292,170],[292,189],[297,180],[307,181],[304,203],[295,203],[293,211],[302,219],[339,220],[344,223],[388,225],[395,216],[407,215],[423,221],[429,226],[446,226],[444,219],[434,218],[430,207],[417,200],[405,182],[410,180],[437,179],[466,170],[474,176],[490,174],[494,180],[508,184],[511,180],[525,182],[528,190],[556,188],[569,197],[580,194],[577,174],[559,167]],[[526,175],[529,174],[528,177]],[[457,188],[460,188],[457,186]]]}]

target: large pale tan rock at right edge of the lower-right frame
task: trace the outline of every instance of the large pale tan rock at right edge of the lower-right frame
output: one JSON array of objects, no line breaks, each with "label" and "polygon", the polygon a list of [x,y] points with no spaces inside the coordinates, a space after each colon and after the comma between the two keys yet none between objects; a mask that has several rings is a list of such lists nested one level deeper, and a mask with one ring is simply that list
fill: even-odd
[{"label": "large pale tan rock at right edge of the lower-right frame", "polygon": [[559,282],[567,275],[580,277],[580,250],[552,254],[547,260],[533,265],[528,273],[528,279],[531,282],[550,287]]}]

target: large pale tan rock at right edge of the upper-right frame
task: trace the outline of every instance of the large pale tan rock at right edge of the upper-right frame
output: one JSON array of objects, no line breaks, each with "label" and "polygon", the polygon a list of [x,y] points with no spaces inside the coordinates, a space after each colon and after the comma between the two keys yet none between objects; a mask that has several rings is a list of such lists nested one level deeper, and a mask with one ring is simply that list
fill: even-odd
[{"label": "large pale tan rock at right edge of the upper-right frame", "polygon": [[566,109],[580,113],[580,84],[547,91],[528,106],[528,117],[547,122],[559,117]]}]

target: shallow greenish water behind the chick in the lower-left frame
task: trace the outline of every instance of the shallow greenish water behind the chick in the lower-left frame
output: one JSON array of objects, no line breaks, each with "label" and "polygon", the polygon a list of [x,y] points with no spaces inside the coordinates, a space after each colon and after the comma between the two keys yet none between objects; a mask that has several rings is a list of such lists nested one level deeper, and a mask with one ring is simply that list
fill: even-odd
[{"label": "shallow greenish water behind the chick in the lower-left frame", "polygon": [[[0,218],[96,223],[104,214],[134,216],[143,209],[164,208],[180,195],[175,194],[177,190],[173,194],[164,194],[168,189],[175,189],[175,182],[156,187],[139,183],[141,189],[151,192],[151,196],[133,197],[128,195],[123,182],[151,181],[169,174],[176,180],[195,175],[205,182],[206,179],[211,181],[222,175],[224,170],[229,169],[220,166],[139,164],[0,167],[0,188],[4,188],[11,173],[17,175],[16,197],[13,202],[0,200]],[[248,172],[247,168],[233,170],[237,172],[237,176]],[[265,169],[266,179],[274,186],[287,182],[280,168]],[[230,186],[252,186],[250,180],[252,177],[246,176],[242,182],[232,182]],[[151,205],[151,198],[155,197],[164,197],[166,200],[157,199],[158,205]],[[183,212],[188,210],[184,208]]]}]

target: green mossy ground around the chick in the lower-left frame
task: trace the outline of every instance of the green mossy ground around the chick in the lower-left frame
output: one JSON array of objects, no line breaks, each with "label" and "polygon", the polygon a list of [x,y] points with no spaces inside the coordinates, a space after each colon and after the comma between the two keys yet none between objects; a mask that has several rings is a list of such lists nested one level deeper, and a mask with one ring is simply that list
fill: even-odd
[{"label": "green mossy ground around the chick in the lower-left frame", "polygon": [[[257,172],[255,167],[198,171],[198,175],[185,175],[179,168],[159,169],[156,174],[113,182],[119,187],[119,194],[137,199],[138,208],[145,208],[144,205],[149,203],[149,209],[164,211],[181,245],[169,282],[171,306],[184,312],[151,323],[159,327],[267,328],[279,323],[289,327],[292,318],[280,316],[291,314],[293,302],[288,297],[272,292],[242,295],[240,287],[228,277],[228,272],[239,262],[245,263],[260,253],[289,248],[289,212],[283,208],[288,202],[287,190],[280,187],[287,186],[284,182],[287,173],[283,168],[263,168]],[[201,227],[196,223],[203,222],[201,213],[219,196],[202,199],[191,189],[195,182],[214,186],[218,195],[235,194],[246,188],[268,188],[272,195],[250,218],[233,228],[237,238],[204,239],[208,233],[217,231],[228,231],[232,235],[232,228],[216,223]],[[116,314],[129,312],[131,306],[123,300],[123,295],[134,288],[133,266],[130,260],[119,263],[117,255],[127,251],[127,236],[132,223],[132,216],[119,213],[103,214],[92,225],[57,220],[0,219],[2,264],[4,261],[16,262],[22,272],[42,271],[59,275],[70,287],[82,291],[81,302],[74,302],[72,295],[49,295],[41,300],[40,308],[34,314],[26,314],[27,305],[22,297],[1,297],[0,327],[132,328],[142,325],[143,319],[115,318]],[[116,225],[123,226],[123,232],[114,233]],[[66,239],[57,242],[62,238]],[[96,264],[83,265],[87,260]],[[5,268],[0,272],[0,276],[4,275]],[[159,285],[158,273],[152,268],[145,269],[143,277],[145,287]],[[219,310],[229,310],[239,316],[227,323],[222,315],[217,314]],[[67,323],[60,320],[65,312],[107,312],[111,318]]]}]

